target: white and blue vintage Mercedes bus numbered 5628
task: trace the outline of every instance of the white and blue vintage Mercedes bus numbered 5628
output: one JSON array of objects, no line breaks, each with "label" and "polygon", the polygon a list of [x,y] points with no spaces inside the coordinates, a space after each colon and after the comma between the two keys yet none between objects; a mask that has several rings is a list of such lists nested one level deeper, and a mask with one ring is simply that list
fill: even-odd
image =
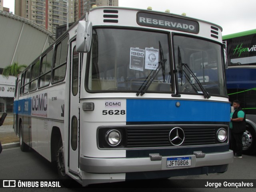
[{"label": "white and blue vintage Mercedes bus numbered 5628", "polygon": [[21,150],[83,186],[225,172],[221,31],[168,12],[92,8],[18,76]]}]

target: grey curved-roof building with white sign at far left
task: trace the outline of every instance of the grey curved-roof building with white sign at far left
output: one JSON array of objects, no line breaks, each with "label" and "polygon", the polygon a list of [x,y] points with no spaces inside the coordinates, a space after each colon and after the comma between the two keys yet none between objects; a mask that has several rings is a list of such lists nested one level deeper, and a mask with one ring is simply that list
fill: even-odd
[{"label": "grey curved-roof building with white sign at far left", "polygon": [[4,78],[3,69],[14,62],[29,65],[52,43],[54,35],[4,11],[0,11],[0,26],[0,112],[12,112],[16,77]]}]

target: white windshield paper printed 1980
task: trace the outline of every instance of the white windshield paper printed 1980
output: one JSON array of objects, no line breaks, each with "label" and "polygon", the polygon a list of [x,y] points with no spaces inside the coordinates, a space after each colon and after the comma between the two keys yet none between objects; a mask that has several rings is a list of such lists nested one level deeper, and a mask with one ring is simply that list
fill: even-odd
[{"label": "white windshield paper printed 1980", "polygon": [[130,69],[143,71],[145,50],[131,48],[130,51]]}]

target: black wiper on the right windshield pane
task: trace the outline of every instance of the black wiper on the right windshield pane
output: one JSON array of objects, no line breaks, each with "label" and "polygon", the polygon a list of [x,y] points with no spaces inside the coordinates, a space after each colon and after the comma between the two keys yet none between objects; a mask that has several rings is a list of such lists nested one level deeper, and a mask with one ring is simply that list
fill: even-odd
[{"label": "black wiper on the right windshield pane", "polygon": [[[211,96],[208,94],[208,92],[204,89],[204,87],[202,86],[202,84],[200,83],[200,81],[198,80],[198,78],[196,77],[196,75],[192,72],[192,70],[189,68],[188,64],[186,63],[182,63],[182,58],[181,58],[181,54],[180,54],[180,47],[178,46],[178,65],[180,68],[180,73],[182,73],[180,75],[181,77],[181,85],[182,85],[182,76],[183,76],[183,66],[188,70],[188,72],[192,75],[192,77],[196,80],[198,86],[200,87],[200,89],[202,90],[203,94],[204,94],[204,98],[210,98]],[[178,94],[178,93],[176,93]]]}]

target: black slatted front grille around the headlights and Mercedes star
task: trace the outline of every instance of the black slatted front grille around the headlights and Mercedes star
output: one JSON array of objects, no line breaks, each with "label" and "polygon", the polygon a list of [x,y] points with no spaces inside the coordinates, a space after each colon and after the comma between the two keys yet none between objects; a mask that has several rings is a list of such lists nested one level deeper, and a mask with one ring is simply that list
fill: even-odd
[{"label": "black slatted front grille around the headlights and Mercedes star", "polygon": [[[170,130],[180,127],[184,131],[185,139],[180,146],[202,146],[220,144],[216,138],[216,132],[220,128],[228,126],[219,125],[170,125],[170,126],[124,126],[104,127],[98,131],[98,140],[105,140],[104,133],[111,129],[119,130],[122,133],[122,142],[119,146],[111,147],[107,143],[100,144],[100,148],[157,148],[174,147],[170,140]],[[227,143],[226,140],[224,143]]]}]

